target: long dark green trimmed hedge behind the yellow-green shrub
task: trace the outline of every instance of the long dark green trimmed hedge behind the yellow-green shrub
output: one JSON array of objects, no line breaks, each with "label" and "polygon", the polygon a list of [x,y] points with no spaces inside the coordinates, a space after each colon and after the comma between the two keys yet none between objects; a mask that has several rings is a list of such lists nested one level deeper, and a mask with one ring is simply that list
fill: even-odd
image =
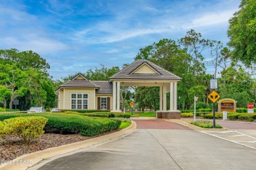
[{"label": "long dark green trimmed hedge behind the yellow-green shrub", "polygon": [[20,116],[43,116],[48,118],[45,125],[45,133],[60,134],[80,134],[84,136],[93,136],[106,131],[118,129],[121,120],[110,118],[96,118],[81,116],[78,114],[63,113],[16,113],[0,114],[0,120]]}]

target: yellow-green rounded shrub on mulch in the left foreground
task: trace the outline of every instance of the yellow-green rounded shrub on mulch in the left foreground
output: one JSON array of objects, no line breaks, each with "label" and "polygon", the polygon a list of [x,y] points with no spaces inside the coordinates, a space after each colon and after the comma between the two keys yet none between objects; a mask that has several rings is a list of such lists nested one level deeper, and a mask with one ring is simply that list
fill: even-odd
[{"label": "yellow-green rounded shrub on mulch in the left foreground", "polygon": [[47,118],[41,116],[5,119],[3,122],[0,122],[0,137],[17,135],[22,137],[25,144],[30,144],[33,139],[45,132],[43,127],[45,127],[47,120]]}]

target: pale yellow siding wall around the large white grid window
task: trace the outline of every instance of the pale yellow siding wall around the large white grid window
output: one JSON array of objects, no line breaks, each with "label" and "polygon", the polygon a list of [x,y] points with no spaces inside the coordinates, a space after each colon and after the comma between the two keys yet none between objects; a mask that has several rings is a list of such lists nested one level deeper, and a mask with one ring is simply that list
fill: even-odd
[{"label": "pale yellow siding wall around the large white grid window", "polygon": [[[95,89],[92,88],[64,88],[60,90],[60,108],[59,109],[71,109],[71,93],[88,93],[88,110],[95,110]],[[63,99],[64,97],[64,99]]]}]

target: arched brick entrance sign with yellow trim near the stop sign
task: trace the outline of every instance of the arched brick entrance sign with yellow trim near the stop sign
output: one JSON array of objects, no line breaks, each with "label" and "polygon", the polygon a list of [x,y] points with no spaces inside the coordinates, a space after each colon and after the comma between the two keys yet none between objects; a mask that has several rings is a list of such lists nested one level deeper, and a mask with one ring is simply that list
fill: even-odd
[{"label": "arched brick entrance sign with yellow trim near the stop sign", "polygon": [[218,112],[236,112],[236,103],[234,99],[221,99],[218,101]]}]

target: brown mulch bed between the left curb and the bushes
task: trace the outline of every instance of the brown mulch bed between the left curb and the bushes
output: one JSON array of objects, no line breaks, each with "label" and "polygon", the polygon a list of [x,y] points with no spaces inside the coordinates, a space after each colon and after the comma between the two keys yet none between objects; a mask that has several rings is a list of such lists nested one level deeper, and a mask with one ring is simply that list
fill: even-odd
[{"label": "brown mulch bed between the left curb and the bushes", "polygon": [[45,150],[47,148],[52,148],[56,146],[62,146],[64,144],[76,143],[79,141],[85,141],[95,137],[100,137],[102,135],[108,135],[115,131],[108,131],[106,133],[101,133],[93,137],[85,137],[82,135],[61,135],[53,133],[45,133],[41,137],[34,139],[31,144],[25,145],[22,140],[18,137],[8,136],[5,138],[0,138],[0,165],[4,161],[14,160],[18,156],[24,154],[30,154],[39,150]]}]

